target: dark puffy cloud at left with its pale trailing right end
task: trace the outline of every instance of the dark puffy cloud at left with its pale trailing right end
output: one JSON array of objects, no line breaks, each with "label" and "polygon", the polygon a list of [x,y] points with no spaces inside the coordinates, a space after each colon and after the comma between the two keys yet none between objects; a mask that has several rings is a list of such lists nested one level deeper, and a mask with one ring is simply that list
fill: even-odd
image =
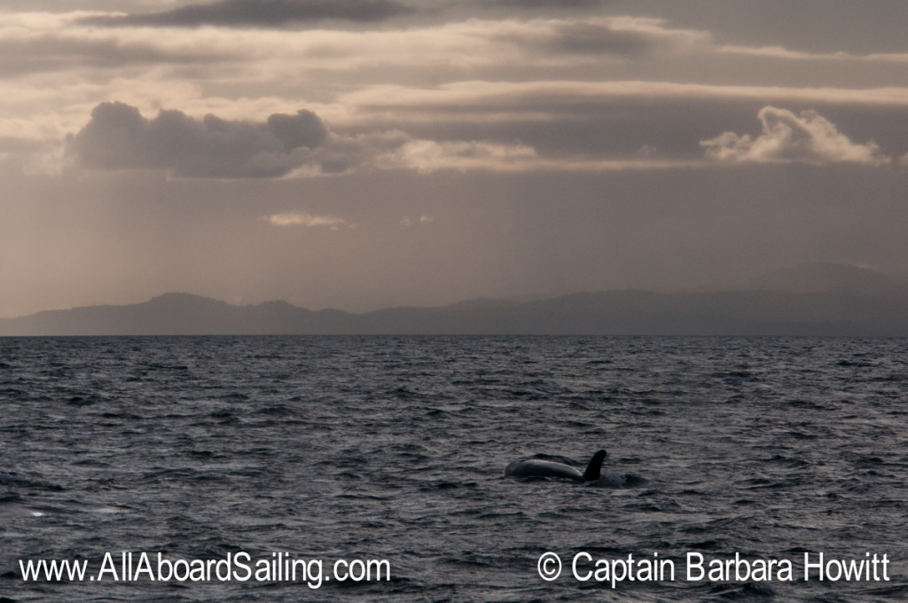
[{"label": "dark puffy cloud at left with its pale trailing right end", "polygon": [[202,119],[164,110],[146,119],[124,103],[102,103],[88,124],[67,137],[67,152],[97,170],[163,170],[183,178],[277,178],[359,170],[513,171],[536,151],[489,141],[435,142],[400,130],[330,133],[318,115],[271,114],[264,123]]}]

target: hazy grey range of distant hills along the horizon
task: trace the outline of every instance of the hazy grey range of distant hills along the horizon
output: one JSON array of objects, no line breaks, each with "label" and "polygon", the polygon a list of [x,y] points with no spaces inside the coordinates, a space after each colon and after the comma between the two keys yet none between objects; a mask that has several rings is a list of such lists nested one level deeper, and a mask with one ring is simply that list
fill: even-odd
[{"label": "hazy grey range of distant hills along the horizon", "polygon": [[586,292],[543,301],[464,301],[363,314],[285,301],[235,306],[167,293],[124,306],[0,320],[0,335],[609,334],[908,336],[908,284],[811,264],[721,292]]}]

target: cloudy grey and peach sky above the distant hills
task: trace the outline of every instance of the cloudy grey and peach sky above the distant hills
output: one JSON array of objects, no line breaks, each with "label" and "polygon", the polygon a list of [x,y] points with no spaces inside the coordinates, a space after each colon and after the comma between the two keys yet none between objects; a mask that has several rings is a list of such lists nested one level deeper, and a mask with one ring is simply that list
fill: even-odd
[{"label": "cloudy grey and peach sky above the distant hills", "polygon": [[903,0],[0,0],[0,317],[908,275]]}]

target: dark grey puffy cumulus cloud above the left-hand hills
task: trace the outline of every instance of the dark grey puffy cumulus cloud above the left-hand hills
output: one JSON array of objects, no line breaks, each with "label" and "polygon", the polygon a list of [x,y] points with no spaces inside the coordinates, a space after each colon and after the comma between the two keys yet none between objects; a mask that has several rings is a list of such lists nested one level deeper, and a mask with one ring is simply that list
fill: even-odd
[{"label": "dark grey puffy cumulus cloud above the left-hand hills", "polygon": [[149,120],[133,106],[103,103],[70,137],[68,151],[84,167],[158,169],[189,178],[269,178],[311,161],[328,130],[318,115],[273,114],[264,124],[197,120],[162,111]]}]

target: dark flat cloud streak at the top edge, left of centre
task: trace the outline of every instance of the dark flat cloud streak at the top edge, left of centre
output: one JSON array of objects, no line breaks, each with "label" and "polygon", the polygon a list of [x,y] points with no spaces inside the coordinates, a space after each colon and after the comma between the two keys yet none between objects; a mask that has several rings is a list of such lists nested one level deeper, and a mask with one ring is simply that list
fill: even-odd
[{"label": "dark flat cloud streak at the top edge, left of centre", "polygon": [[296,22],[341,19],[378,22],[413,11],[396,0],[220,0],[208,5],[187,5],[169,11],[86,18],[94,25],[200,25],[280,26]]}]

